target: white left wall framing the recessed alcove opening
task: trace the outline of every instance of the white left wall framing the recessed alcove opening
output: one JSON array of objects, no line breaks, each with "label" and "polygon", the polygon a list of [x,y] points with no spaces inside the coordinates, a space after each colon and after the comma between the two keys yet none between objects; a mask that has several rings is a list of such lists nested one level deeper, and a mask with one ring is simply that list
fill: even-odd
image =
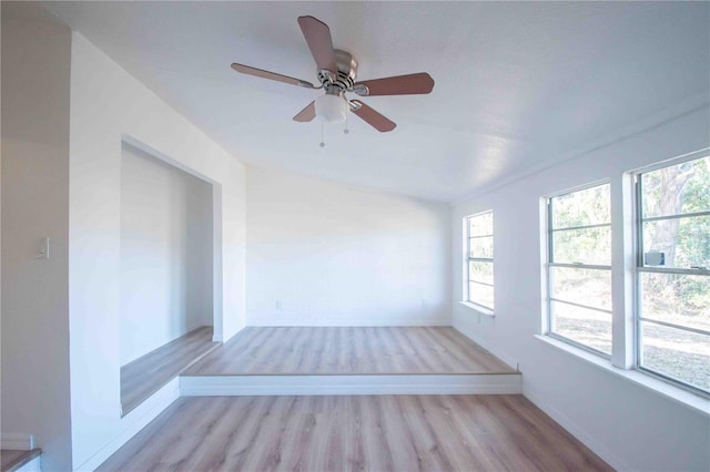
[{"label": "white left wall framing the recessed alcove opening", "polygon": [[217,338],[245,324],[245,170],[143,84],[72,34],[69,307],[74,468],[98,464],[141,420],[120,418],[122,142],[213,184]]}]

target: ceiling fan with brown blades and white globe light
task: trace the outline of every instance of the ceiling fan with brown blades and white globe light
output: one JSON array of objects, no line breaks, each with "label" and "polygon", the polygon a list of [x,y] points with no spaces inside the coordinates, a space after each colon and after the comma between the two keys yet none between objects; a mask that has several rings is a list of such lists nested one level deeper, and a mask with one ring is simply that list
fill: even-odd
[{"label": "ceiling fan with brown blades and white globe light", "polygon": [[313,17],[298,17],[298,25],[315,59],[321,86],[250,65],[232,64],[232,69],[243,74],[305,89],[323,89],[325,94],[298,112],[293,117],[294,121],[310,122],[318,116],[326,122],[339,122],[345,120],[349,110],[375,130],[384,133],[394,130],[397,126],[396,123],[359,100],[348,100],[345,96],[346,93],[354,92],[359,96],[409,95],[429,93],[434,88],[434,80],[426,72],[356,82],[357,61],[349,52],[333,48],[331,29],[327,24]]}]

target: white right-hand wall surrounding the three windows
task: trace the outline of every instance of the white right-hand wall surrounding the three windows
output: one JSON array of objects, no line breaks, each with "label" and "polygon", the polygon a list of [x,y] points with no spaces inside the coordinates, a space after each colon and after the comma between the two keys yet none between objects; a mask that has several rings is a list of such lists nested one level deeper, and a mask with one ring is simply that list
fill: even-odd
[{"label": "white right-hand wall surrounding the three windows", "polygon": [[[454,326],[507,362],[519,362],[524,393],[618,469],[710,470],[710,418],[535,338],[542,316],[540,197],[610,179],[617,250],[629,230],[629,218],[616,211],[622,173],[707,147],[709,129],[706,106],[454,207],[454,300],[462,299],[464,216],[494,209],[496,253],[496,317],[455,304]],[[620,253],[612,264],[622,273]],[[628,318],[622,280],[615,277],[615,310]]]}]

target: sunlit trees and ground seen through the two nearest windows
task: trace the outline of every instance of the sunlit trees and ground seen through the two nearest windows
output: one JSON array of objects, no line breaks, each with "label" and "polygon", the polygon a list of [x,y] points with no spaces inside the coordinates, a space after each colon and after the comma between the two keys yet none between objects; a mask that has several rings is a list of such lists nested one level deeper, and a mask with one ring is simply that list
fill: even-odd
[{"label": "sunlit trees and ground seen through the two nearest windows", "polygon": [[[610,223],[609,186],[602,185],[552,199],[552,228]],[[710,211],[710,157],[642,175],[643,218]],[[710,268],[710,216],[645,222],[642,253],[665,254],[661,267]],[[555,230],[552,260],[609,266],[610,226]],[[710,331],[710,276],[640,274],[641,316]],[[589,307],[611,306],[609,273],[551,270],[552,297]],[[604,352],[611,350],[611,316],[555,304],[555,329]],[[710,390],[710,337],[655,324],[641,330],[641,363],[655,371]]]}]

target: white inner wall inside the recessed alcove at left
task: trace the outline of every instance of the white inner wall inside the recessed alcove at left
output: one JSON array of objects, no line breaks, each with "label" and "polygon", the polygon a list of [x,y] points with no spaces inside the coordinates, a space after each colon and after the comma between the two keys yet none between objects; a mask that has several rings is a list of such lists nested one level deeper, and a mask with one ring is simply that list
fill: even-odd
[{"label": "white inner wall inside the recessed alcove at left", "polygon": [[123,145],[121,363],[212,326],[212,186]]}]

